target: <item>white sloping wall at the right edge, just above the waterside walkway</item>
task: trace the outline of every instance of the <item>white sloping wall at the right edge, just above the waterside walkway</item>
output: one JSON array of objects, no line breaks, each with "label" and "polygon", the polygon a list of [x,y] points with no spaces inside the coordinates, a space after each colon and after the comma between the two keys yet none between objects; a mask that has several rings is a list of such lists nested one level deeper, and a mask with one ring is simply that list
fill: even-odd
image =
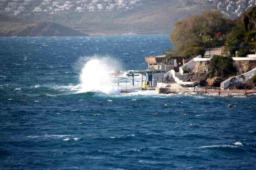
[{"label": "white sloping wall at the right edge, just above the waterside walkway", "polygon": [[244,74],[238,75],[236,77],[230,77],[229,79],[226,79],[222,83],[220,83],[220,87],[222,90],[228,88],[230,85],[234,83],[241,83],[242,81],[245,81],[252,77],[256,73],[256,68],[252,69],[251,71],[248,71]]}]

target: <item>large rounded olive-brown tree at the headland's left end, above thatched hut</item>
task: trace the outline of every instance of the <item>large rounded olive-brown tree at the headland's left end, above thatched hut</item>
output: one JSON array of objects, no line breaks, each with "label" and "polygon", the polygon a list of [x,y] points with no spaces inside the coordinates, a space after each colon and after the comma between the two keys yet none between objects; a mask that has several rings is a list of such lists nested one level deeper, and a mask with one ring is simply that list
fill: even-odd
[{"label": "large rounded olive-brown tree at the headland's left end, above thatched hut", "polygon": [[[173,52],[176,56],[189,59],[198,55],[204,55],[205,49],[221,46],[225,41],[234,23],[224,18],[218,10],[205,10],[202,14],[187,16],[174,24],[175,28],[170,35],[171,42],[175,45]],[[214,33],[220,32],[219,36]],[[209,40],[211,39],[211,40]]]}]

